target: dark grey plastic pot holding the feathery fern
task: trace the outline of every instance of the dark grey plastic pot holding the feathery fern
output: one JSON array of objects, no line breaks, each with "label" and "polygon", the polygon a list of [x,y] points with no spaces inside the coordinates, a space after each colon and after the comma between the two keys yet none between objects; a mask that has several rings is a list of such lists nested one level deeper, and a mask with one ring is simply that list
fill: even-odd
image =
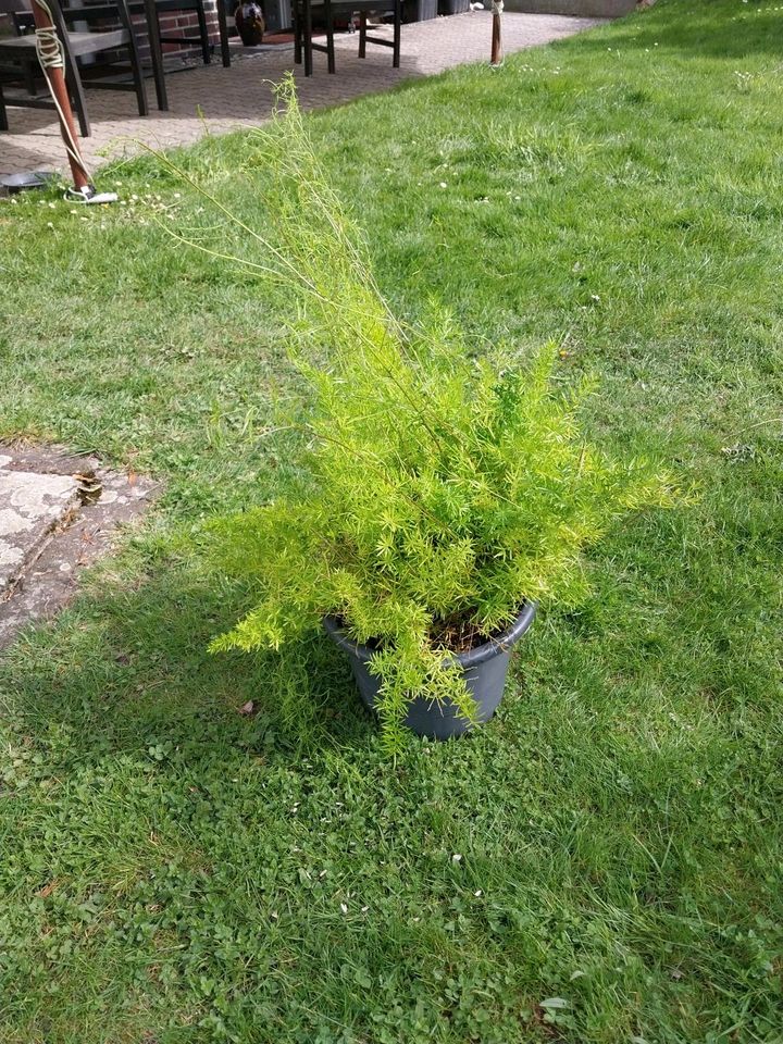
[{"label": "dark grey plastic pot holding the feathery fern", "polygon": [[[468,691],[476,701],[476,720],[480,723],[489,721],[497,710],[506,685],[511,648],[533,623],[535,614],[536,602],[529,601],[511,626],[486,645],[449,657],[448,662],[462,672]],[[373,650],[347,637],[334,617],[324,619],[324,627],[332,641],[348,654],[361,698],[372,710],[381,687],[378,679],[368,669]],[[411,700],[405,723],[417,735],[432,739],[449,739],[470,729],[470,723],[460,716],[453,704],[437,704],[424,696]]]}]

